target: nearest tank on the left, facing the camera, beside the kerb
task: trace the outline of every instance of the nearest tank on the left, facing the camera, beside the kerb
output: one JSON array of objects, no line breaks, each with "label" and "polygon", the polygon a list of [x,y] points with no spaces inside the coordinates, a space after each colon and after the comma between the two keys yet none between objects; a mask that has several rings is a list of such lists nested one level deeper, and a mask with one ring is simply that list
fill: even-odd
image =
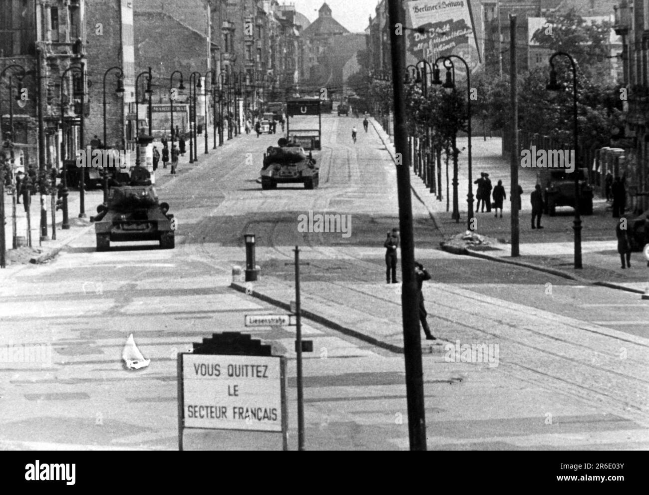
[{"label": "nearest tank on the left, facing the camera, beside the kerb", "polygon": [[167,213],[169,204],[158,202],[146,175],[146,169],[136,167],[130,185],[111,187],[108,204],[97,206],[98,215],[90,217],[95,223],[97,251],[108,250],[111,242],[128,241],[159,241],[162,249],[175,247],[173,215]]}]

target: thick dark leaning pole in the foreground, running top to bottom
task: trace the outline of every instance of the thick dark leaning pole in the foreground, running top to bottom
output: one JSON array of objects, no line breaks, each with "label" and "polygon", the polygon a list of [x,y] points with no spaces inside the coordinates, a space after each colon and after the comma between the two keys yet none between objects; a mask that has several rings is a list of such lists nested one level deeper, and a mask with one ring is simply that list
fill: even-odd
[{"label": "thick dark leaning pole in the foreground, running top to bottom", "polygon": [[[397,191],[399,228],[401,231],[402,319],[404,326],[404,359],[408,404],[410,450],[426,450],[426,418],[424,413],[424,376],[421,364],[421,335],[415,280],[415,241],[413,235],[410,192],[410,155],[406,128],[404,76],[406,74],[405,12],[403,0],[387,0],[390,26],[390,51],[394,91],[395,151],[397,156]],[[397,25],[400,33],[397,34]]]}]

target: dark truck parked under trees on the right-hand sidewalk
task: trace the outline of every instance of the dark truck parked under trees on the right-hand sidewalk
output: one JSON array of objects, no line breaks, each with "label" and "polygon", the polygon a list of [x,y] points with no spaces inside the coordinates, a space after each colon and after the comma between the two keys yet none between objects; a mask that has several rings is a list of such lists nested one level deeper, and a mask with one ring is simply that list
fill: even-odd
[{"label": "dark truck parked under trees on the right-hand sidewalk", "polygon": [[541,184],[545,213],[556,215],[557,206],[575,206],[574,174],[578,174],[580,187],[579,212],[593,215],[593,187],[588,183],[588,170],[576,169],[570,173],[565,168],[541,168],[537,173],[537,184]]}]

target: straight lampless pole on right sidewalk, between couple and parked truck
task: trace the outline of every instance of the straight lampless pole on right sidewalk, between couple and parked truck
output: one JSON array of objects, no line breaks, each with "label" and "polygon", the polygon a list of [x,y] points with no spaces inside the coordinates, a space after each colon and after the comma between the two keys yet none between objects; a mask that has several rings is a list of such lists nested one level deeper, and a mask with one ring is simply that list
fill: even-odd
[{"label": "straight lampless pole on right sidewalk, between couple and parked truck", "polygon": [[516,16],[509,14],[509,95],[511,97],[511,257],[519,252],[519,98],[516,67]]}]

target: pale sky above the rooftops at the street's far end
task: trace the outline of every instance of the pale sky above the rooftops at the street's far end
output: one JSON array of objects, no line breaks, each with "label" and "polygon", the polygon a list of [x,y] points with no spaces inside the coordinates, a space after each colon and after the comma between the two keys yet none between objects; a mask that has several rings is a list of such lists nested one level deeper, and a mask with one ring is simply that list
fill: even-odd
[{"label": "pale sky above the rooftops at the street's far end", "polygon": [[[369,16],[376,15],[379,0],[326,0],[332,10],[332,17],[351,32],[364,32],[369,24]],[[304,14],[310,21],[315,21],[318,9],[324,0],[278,0],[280,5],[294,3],[295,9]]]}]

